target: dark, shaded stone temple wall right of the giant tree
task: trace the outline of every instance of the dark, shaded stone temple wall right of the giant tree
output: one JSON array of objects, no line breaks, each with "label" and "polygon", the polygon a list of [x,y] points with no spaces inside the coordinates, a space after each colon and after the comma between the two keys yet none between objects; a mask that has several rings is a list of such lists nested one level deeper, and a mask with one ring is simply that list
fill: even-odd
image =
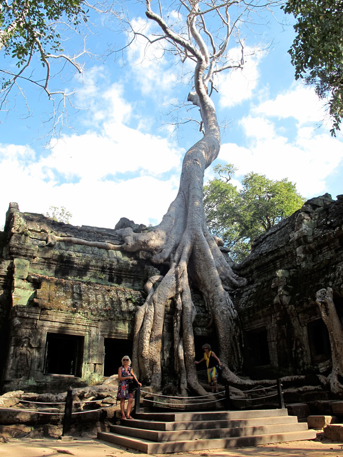
[{"label": "dark, shaded stone temple wall right of the giant tree", "polygon": [[244,329],[245,372],[327,373],[329,340],[315,294],[331,287],[343,317],[343,196],[308,200],[256,239],[237,271],[248,279],[234,297]]}]

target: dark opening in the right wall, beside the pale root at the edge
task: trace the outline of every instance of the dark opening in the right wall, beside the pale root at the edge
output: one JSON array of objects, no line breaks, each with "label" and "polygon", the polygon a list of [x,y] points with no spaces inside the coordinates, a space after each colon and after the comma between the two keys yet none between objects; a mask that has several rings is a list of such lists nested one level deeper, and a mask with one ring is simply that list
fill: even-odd
[{"label": "dark opening in the right wall, beside the pale root at the edge", "polygon": [[308,342],[312,362],[323,362],[331,356],[330,339],[322,319],[307,324]]}]

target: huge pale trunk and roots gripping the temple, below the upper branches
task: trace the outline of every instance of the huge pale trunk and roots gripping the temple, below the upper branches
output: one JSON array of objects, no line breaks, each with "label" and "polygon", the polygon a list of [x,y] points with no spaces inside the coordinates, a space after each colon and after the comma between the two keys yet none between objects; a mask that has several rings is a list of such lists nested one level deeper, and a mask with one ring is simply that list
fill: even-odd
[{"label": "huge pale trunk and roots gripping the temple, below the upper branches", "polygon": [[224,362],[224,376],[229,381],[240,382],[228,368],[239,369],[242,364],[241,332],[229,291],[243,285],[245,280],[232,271],[206,227],[204,171],[218,155],[220,134],[212,102],[206,93],[202,98],[200,102],[197,94],[189,96],[201,108],[205,135],[186,153],[179,192],[161,223],[144,234],[135,234],[130,228],[117,231],[124,240],[118,249],[149,252],[152,263],[168,265],[169,268],[164,277],[149,278],[145,285],[147,298],[137,311],[134,326],[135,370],[141,381],[152,389],[161,386],[164,309],[167,301],[173,299],[175,368],[181,390],[185,392],[188,386],[198,393],[205,392],[195,368],[195,307],[190,282],[203,293],[211,310],[219,355]]}]

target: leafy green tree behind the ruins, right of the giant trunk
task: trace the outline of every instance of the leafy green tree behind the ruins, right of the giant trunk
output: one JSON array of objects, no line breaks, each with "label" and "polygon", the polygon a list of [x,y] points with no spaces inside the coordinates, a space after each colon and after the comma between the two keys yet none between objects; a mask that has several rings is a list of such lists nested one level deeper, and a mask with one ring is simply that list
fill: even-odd
[{"label": "leafy green tree behind the ruins, right of the giant trunk", "polygon": [[204,186],[207,225],[222,238],[230,256],[241,262],[251,251],[252,241],[299,209],[305,201],[286,178],[272,181],[265,175],[248,173],[242,189],[231,184],[234,166],[217,165],[219,177]]}]

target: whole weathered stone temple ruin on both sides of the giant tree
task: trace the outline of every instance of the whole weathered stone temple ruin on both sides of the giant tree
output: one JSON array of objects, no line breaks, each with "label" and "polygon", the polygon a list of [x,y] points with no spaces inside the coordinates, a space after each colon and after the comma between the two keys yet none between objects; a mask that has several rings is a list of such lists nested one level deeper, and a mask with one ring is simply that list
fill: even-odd
[{"label": "whole weathered stone temple ruin on both sides of the giant tree", "polygon": [[[51,243],[54,237],[58,241]],[[69,385],[98,384],[131,352],[135,310],[156,267],[140,253],[65,243],[60,237],[121,244],[114,229],[76,227],[10,204],[0,232],[3,392],[62,392]],[[327,375],[330,340],[316,292],[333,290],[342,322],[343,196],[308,200],[255,240],[251,255],[234,268],[248,279],[233,296],[244,336],[242,374],[253,379]],[[216,336],[196,290],[193,299],[200,355],[205,341],[216,348]],[[164,384],[174,379],[173,313],[170,302],[161,353]],[[317,398],[324,394],[317,392]]]}]

